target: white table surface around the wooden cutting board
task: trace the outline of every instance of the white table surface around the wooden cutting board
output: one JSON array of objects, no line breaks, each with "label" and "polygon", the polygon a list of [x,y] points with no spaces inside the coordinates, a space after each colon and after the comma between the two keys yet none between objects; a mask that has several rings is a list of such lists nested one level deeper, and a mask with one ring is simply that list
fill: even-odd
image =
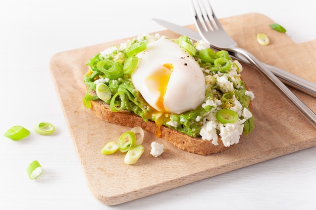
[{"label": "white table surface around the wooden cutting board", "polygon": [[[224,3],[225,2],[225,3]],[[315,1],[213,1],[218,18],[261,13],[295,42],[316,38]],[[55,53],[164,30],[161,18],[193,24],[188,1],[2,0],[0,2],[0,132],[31,130],[14,142],[0,136],[0,209],[312,209],[316,207],[316,148],[235,170],[116,206],[90,192],[73,145],[48,62]],[[33,131],[39,121],[51,136]],[[38,160],[43,174],[30,180]]]}]

